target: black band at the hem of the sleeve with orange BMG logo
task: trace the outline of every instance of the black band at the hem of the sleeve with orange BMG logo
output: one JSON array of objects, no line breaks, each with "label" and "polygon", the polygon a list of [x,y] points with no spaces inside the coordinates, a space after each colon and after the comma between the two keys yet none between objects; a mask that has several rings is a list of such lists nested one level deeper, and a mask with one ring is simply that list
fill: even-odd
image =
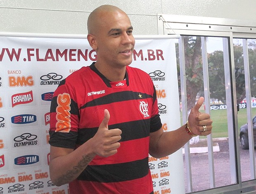
[{"label": "black band at the hem of the sleeve with orange BMG logo", "polygon": [[49,131],[49,144],[55,147],[64,147],[75,149],[77,132],[70,131],[68,134],[64,132]]}]

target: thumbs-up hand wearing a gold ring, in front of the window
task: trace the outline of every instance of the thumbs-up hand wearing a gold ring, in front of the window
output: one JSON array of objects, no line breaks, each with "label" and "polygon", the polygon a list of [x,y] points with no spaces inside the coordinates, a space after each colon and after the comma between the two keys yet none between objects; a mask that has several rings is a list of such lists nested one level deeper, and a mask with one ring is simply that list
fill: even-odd
[{"label": "thumbs-up hand wearing a gold ring, in front of the window", "polygon": [[204,103],[204,97],[200,97],[197,104],[191,109],[188,116],[190,130],[195,135],[209,135],[212,129],[212,120],[207,113],[199,112],[199,108]]}]

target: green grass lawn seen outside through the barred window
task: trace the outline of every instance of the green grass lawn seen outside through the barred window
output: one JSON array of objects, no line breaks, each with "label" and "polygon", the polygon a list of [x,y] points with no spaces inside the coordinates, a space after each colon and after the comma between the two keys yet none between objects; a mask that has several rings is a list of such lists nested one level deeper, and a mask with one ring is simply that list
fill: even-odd
[{"label": "green grass lawn seen outside through the barred window", "polygon": [[[251,115],[256,115],[256,108],[251,109]],[[227,110],[211,110],[211,119],[213,120],[212,136],[216,137],[228,137],[228,120]],[[238,111],[238,130],[242,125],[247,123],[247,109],[239,109]],[[200,136],[200,138],[206,138]]]}]

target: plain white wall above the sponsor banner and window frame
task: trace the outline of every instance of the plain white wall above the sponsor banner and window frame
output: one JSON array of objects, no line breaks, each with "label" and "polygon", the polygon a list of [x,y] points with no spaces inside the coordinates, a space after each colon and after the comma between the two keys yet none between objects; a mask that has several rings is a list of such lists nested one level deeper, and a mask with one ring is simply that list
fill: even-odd
[{"label": "plain white wall above the sponsor banner and window frame", "polygon": [[242,19],[256,24],[254,0],[0,0],[0,32],[86,34],[88,14],[103,4],[123,9],[135,35],[157,34],[156,14]]}]

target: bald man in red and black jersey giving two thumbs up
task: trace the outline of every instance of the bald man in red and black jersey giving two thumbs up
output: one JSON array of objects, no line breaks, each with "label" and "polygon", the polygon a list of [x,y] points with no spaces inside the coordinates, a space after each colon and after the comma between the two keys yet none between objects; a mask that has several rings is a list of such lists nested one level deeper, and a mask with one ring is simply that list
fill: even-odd
[{"label": "bald man in red and black jersey giving two thumbs up", "polygon": [[[51,104],[50,177],[71,194],[153,193],[148,154],[172,154],[194,135],[209,135],[209,114],[198,110],[186,125],[163,132],[151,78],[132,62],[130,19],[103,5],[88,17],[88,42],[97,62],[72,73]],[[144,114],[140,111],[144,107]]]}]

